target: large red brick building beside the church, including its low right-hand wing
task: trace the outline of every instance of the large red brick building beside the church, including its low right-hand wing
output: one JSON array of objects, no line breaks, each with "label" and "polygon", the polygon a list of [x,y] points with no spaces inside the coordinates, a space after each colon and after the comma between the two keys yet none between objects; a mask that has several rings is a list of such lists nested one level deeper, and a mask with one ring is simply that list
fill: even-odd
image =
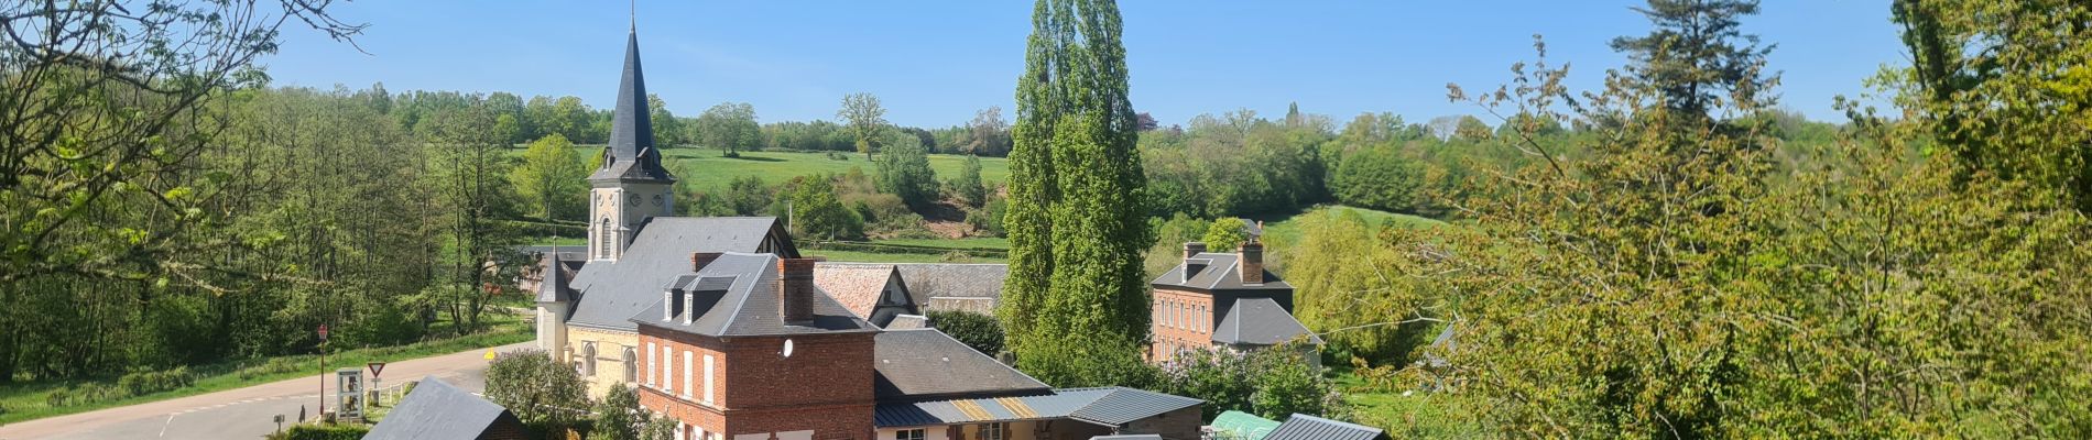
[{"label": "large red brick building beside the church, including its low right-hand wing", "polygon": [[937,329],[881,332],[814,261],[697,252],[638,325],[640,405],[686,440],[1199,438],[1197,398],[1054,390]]}]

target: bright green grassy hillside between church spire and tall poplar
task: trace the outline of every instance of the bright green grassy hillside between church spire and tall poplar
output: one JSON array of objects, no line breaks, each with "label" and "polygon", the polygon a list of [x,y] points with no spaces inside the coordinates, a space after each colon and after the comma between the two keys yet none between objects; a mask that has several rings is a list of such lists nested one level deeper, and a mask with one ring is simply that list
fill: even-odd
[{"label": "bright green grassy hillside between church spire and tall poplar", "polygon": [[[584,158],[594,158],[602,154],[602,146],[577,146]],[[523,148],[513,150],[513,154],[523,156]],[[799,175],[812,173],[847,173],[851,167],[872,173],[872,163],[864,161],[858,152],[839,152],[837,158],[828,158],[828,152],[741,152],[738,158],[720,156],[722,150],[713,148],[667,148],[663,150],[663,165],[678,179],[688,181],[695,188],[726,188],[726,181],[743,175],[755,175],[764,181],[778,184]],[[937,171],[937,179],[958,177],[958,169],[964,167],[967,156],[958,154],[929,154],[929,167]],[[983,181],[1008,181],[1010,167],[1008,158],[983,156],[981,158],[981,179]]]}]

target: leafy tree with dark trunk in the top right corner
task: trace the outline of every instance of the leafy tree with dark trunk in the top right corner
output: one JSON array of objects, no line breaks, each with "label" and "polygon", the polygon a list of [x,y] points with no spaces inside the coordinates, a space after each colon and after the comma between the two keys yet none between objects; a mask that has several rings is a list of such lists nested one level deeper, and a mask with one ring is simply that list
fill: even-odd
[{"label": "leafy tree with dark trunk in the top right corner", "polygon": [[2008,181],[2063,188],[2092,211],[2092,6],[2084,2],[1897,0],[1908,69],[1887,71],[1962,165]]}]

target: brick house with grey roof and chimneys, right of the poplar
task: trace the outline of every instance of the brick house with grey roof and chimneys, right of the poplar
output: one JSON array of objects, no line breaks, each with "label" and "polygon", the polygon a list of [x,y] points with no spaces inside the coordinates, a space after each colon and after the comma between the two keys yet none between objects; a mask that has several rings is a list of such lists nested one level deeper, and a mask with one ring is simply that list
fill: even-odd
[{"label": "brick house with grey roof and chimneys, right of the poplar", "polygon": [[[1253,227],[1251,231],[1261,231]],[[1182,350],[1264,350],[1297,344],[1312,363],[1322,338],[1293,317],[1293,284],[1264,267],[1264,242],[1245,240],[1236,252],[1207,252],[1184,244],[1184,261],[1149,282],[1155,288],[1155,334],[1149,359],[1167,363]]]}]

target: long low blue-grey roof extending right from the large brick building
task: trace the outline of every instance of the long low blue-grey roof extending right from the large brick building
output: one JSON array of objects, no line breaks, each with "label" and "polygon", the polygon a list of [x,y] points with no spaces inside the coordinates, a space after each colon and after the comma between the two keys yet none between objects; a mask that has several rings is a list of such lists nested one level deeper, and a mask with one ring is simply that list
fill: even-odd
[{"label": "long low blue-grey roof extending right from the large brick building", "polygon": [[1077,419],[1098,425],[1125,425],[1136,419],[1203,405],[1205,400],[1161,392],[1109,388],[1065,388],[1044,396],[954,398],[931,402],[881,402],[872,411],[879,427],[956,425],[1027,419]]}]

